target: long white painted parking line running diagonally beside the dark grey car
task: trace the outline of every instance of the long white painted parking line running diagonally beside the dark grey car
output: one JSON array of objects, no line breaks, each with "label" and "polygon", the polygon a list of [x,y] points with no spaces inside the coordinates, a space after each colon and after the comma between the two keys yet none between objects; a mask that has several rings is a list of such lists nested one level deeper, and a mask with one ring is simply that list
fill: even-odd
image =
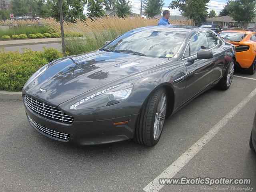
[{"label": "long white painted parking line running diagonally beside the dark grey car", "polygon": [[160,178],[173,178],[220,130],[256,95],[254,89],[246,98],[236,105],[226,116],[213,126],[204,136],[193,144],[184,154],[174,161],[166,170],[143,188],[145,192],[158,192],[164,185],[159,184]]}]

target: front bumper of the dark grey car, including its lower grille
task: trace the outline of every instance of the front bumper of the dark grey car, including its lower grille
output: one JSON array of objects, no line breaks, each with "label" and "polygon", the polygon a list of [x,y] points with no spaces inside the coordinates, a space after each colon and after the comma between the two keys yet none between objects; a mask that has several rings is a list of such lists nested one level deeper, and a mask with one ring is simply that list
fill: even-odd
[{"label": "front bumper of the dark grey car, including its lower grille", "polygon": [[[99,121],[74,121],[72,124],[65,124],[39,116],[30,110],[26,104],[24,105],[28,121],[38,132],[54,140],[79,145],[104,144],[131,139],[139,115],[134,114]],[[113,125],[114,122],[124,121],[130,121],[130,123]]]}]

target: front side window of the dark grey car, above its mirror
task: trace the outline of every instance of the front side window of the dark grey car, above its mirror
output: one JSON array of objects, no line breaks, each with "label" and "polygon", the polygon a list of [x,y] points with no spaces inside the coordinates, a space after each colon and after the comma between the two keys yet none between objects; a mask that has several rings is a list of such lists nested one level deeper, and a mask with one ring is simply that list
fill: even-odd
[{"label": "front side window of the dark grey car, above its mirror", "polygon": [[196,55],[200,49],[209,49],[206,34],[204,32],[198,33],[190,40],[190,55]]}]

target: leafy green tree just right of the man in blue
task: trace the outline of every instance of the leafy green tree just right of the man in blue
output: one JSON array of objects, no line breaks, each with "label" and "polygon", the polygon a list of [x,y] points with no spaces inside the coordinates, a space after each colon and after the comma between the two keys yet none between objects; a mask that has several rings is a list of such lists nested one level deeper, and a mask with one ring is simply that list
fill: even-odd
[{"label": "leafy green tree just right of the man in blue", "polygon": [[177,9],[182,16],[194,20],[196,26],[206,21],[207,4],[210,0],[172,0],[168,8]]}]

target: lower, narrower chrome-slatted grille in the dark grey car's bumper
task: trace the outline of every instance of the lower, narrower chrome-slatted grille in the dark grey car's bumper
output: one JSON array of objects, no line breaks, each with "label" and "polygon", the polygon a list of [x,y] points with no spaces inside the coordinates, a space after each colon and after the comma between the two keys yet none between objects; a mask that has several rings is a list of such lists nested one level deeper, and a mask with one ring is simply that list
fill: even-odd
[{"label": "lower, narrower chrome-slatted grille in the dark grey car's bumper", "polygon": [[39,131],[51,136],[51,137],[54,137],[54,138],[58,138],[58,139],[62,139],[62,140],[68,140],[70,138],[70,135],[68,134],[65,134],[65,133],[61,133],[61,132],[57,132],[57,131],[54,131],[54,130],[51,130],[51,129],[48,129],[44,126],[41,126],[40,124],[36,123],[34,120],[32,120],[30,118],[30,116],[28,116],[30,122],[36,127],[38,128]]}]

